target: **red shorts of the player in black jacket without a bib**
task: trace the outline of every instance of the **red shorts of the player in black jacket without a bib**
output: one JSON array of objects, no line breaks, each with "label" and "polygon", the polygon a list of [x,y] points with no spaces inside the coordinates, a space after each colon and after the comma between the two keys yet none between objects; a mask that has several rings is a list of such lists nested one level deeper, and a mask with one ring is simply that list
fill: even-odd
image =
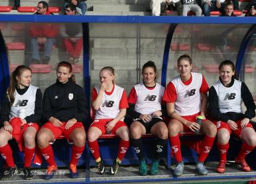
[{"label": "red shorts of the player in black jacket without a bib", "polygon": [[84,130],[82,122],[76,122],[75,124],[73,124],[73,126],[68,128],[68,130],[65,129],[66,122],[62,123],[62,126],[54,126],[51,122],[46,122],[46,124],[44,124],[42,128],[48,128],[54,135],[54,139],[58,138],[61,135],[64,135],[65,138],[69,139],[70,134],[73,132],[75,128],[82,128]]}]

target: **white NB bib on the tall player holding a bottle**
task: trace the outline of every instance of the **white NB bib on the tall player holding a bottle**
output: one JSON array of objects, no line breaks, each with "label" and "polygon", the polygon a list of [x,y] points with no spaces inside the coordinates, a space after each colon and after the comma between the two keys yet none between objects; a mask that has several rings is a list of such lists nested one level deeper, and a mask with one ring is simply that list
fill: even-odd
[{"label": "white NB bib on the tall player holding a bottle", "polygon": [[192,72],[191,75],[192,81],[189,85],[185,85],[180,76],[171,81],[177,93],[174,111],[180,116],[195,115],[201,111],[200,88],[203,77],[201,73]]}]

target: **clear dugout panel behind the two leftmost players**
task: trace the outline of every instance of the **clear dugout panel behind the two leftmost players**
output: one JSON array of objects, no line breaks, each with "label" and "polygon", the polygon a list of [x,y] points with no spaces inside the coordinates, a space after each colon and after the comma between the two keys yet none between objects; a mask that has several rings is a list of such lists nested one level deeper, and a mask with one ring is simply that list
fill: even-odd
[{"label": "clear dugout panel behind the two leftmost players", "polygon": [[32,84],[42,92],[56,81],[56,64],[73,64],[76,83],[84,86],[82,73],[82,24],[7,23],[1,28],[13,71],[25,64],[32,69]]}]

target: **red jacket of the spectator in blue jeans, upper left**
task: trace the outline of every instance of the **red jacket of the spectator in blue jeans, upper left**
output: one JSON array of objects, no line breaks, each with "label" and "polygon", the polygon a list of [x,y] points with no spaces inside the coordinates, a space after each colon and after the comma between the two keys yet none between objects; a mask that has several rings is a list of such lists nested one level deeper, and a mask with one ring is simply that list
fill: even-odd
[{"label": "red jacket of the spectator in blue jeans, upper left", "polygon": [[[34,13],[34,15],[38,15]],[[50,11],[46,12],[46,15],[52,15]],[[50,17],[49,17],[50,18]],[[58,34],[58,25],[50,24],[50,23],[35,23],[29,26],[29,33],[33,38],[38,37],[46,37],[46,38],[54,38]]]}]

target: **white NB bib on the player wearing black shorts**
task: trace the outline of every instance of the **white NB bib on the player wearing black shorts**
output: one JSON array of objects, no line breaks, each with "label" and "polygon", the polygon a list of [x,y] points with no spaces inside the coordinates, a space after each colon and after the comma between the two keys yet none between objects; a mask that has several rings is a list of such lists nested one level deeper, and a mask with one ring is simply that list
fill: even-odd
[{"label": "white NB bib on the player wearing black shorts", "polygon": [[164,87],[162,85],[155,86],[154,89],[147,89],[143,83],[135,85],[137,101],[134,110],[142,115],[151,115],[155,111],[161,111],[162,96],[164,95]]}]

